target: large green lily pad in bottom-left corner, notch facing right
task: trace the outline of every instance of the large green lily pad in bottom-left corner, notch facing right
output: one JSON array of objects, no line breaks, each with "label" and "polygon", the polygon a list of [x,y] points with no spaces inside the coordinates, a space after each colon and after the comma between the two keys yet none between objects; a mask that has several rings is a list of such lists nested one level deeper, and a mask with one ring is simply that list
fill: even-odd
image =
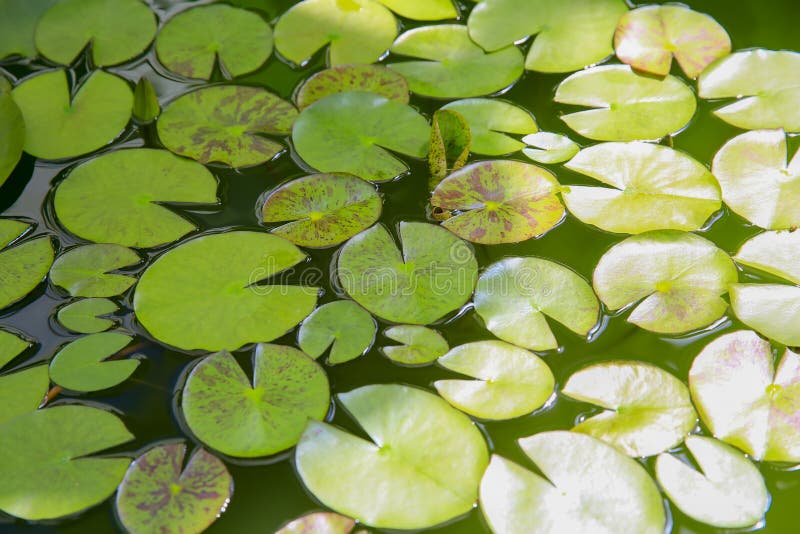
[{"label": "large green lily pad in bottom-left corner, notch facing right", "polygon": [[0,427],[0,510],[38,521],[81,512],[117,489],[129,458],[90,456],[133,439],[115,415],[54,406]]}]

